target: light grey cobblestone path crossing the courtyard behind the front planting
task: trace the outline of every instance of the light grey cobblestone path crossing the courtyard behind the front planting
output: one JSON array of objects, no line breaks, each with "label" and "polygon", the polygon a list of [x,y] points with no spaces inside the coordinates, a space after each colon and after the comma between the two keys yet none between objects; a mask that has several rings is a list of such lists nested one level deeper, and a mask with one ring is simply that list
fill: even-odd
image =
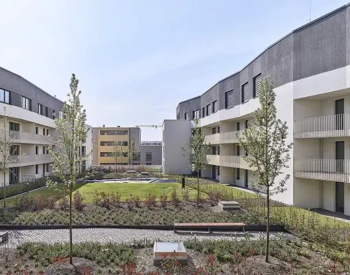
[{"label": "light grey cobblestone path crossing the courtyard behind the front planting", "polygon": [[[250,240],[264,237],[264,233],[248,232],[176,232],[172,230],[141,230],[141,229],[119,229],[119,228],[86,228],[73,229],[73,243],[94,241],[99,243],[132,243],[134,240],[148,241],[185,241],[196,236],[197,239],[244,239],[248,235]],[[287,233],[271,233],[270,236],[284,236],[289,238]],[[26,241],[44,243],[65,243],[69,239],[69,230],[15,230],[10,232],[7,244],[16,247],[19,243]],[[1,247],[1,245],[0,245]]]}]

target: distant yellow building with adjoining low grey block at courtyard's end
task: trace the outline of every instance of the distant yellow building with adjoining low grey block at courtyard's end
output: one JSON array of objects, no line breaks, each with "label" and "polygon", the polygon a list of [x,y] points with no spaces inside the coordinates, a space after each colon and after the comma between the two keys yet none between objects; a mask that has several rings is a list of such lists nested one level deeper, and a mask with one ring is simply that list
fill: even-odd
[{"label": "distant yellow building with adjoining low grey block at courtyard's end", "polygon": [[[137,157],[130,159],[132,141]],[[141,142],[139,127],[93,127],[93,165],[161,165],[161,142]],[[115,147],[114,144],[117,144]],[[113,152],[120,152],[117,159]]]}]

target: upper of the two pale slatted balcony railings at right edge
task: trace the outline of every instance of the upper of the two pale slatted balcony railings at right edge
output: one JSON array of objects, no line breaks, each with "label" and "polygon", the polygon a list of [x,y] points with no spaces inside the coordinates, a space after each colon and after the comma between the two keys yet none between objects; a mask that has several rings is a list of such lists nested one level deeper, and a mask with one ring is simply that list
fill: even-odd
[{"label": "upper of the two pale slatted balcony railings at right edge", "polygon": [[294,120],[295,138],[349,137],[350,113]]}]

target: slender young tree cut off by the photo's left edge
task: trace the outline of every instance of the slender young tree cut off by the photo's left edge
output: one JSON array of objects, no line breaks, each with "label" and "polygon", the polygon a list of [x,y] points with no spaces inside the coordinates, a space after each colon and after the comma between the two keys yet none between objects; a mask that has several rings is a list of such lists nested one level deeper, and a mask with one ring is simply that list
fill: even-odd
[{"label": "slender young tree cut off by the photo's left edge", "polygon": [[6,207],[6,173],[9,171],[8,166],[16,160],[10,153],[13,143],[14,137],[10,131],[6,107],[3,107],[3,113],[0,114],[0,170],[3,174],[3,208]]}]

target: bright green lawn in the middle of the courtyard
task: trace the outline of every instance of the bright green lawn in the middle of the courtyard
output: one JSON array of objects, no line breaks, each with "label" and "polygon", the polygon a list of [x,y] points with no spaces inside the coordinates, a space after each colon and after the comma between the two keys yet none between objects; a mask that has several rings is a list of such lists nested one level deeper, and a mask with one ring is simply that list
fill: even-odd
[{"label": "bright green lawn in the middle of the courtyard", "polygon": [[[97,192],[106,192],[113,193],[119,192],[121,195],[121,200],[125,201],[130,194],[134,196],[139,196],[141,200],[144,200],[148,194],[157,195],[157,199],[159,195],[165,191],[168,195],[168,200],[171,199],[170,193],[172,190],[176,188],[178,192],[178,197],[183,199],[183,189],[181,188],[181,184],[76,184],[75,190],[79,190],[79,192],[84,196],[85,203],[91,203],[93,201],[93,196],[95,194],[95,190]],[[188,188],[191,199],[196,198],[197,190],[192,188]],[[62,186],[58,188],[58,190],[49,189],[47,187],[34,190],[32,192],[28,192],[23,194],[22,196],[29,197],[37,197],[38,195],[54,195],[57,200],[62,198]],[[204,193],[202,193],[203,197],[206,197]],[[7,206],[14,206],[15,197],[10,197],[6,200]],[[1,203],[1,201],[0,201]]]}]

